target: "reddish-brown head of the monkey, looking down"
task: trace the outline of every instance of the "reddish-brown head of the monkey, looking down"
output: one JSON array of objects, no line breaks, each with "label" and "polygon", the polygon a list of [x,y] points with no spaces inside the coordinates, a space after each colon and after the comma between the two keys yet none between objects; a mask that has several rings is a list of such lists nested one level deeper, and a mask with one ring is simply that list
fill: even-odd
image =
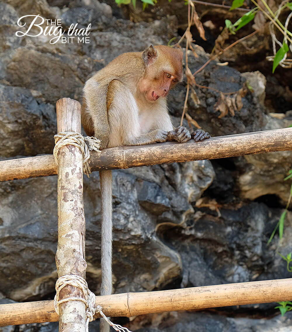
[{"label": "reddish-brown head of the monkey, looking down", "polygon": [[148,46],[142,53],[145,75],[139,84],[140,92],[149,101],[166,97],[169,90],[182,80],[182,51],[170,46]]}]

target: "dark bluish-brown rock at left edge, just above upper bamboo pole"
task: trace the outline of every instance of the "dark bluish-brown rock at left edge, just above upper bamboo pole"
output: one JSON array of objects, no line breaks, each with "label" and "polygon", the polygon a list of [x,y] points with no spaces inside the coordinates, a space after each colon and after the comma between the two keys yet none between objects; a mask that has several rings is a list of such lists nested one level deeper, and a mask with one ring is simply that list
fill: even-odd
[{"label": "dark bluish-brown rock at left edge, just above upper bamboo pole", "polygon": [[52,105],[28,89],[0,84],[1,156],[52,153],[56,131]]}]

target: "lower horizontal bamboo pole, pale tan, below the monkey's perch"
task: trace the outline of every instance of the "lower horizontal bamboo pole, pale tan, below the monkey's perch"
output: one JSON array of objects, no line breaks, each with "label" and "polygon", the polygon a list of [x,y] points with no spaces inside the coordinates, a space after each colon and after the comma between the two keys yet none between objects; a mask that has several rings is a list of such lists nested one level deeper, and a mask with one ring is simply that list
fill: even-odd
[{"label": "lower horizontal bamboo pole, pale tan, below the monkey's perch", "polygon": [[[103,307],[106,316],[131,317],[164,311],[206,309],[291,299],[292,278],[289,278],[96,296],[95,303]],[[58,318],[52,300],[0,305],[0,326],[56,322]]]}]

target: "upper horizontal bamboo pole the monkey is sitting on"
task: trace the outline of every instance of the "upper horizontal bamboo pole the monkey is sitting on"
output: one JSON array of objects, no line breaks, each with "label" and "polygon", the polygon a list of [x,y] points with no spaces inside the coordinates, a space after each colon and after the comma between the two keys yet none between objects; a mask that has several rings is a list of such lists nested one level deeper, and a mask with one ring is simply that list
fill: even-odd
[{"label": "upper horizontal bamboo pole the monkey is sitting on", "polygon": [[[245,154],[292,150],[292,128],[212,137],[196,143],[166,142],[91,151],[91,171],[121,169],[172,162],[216,159]],[[0,181],[56,175],[52,155],[0,162]]]}]

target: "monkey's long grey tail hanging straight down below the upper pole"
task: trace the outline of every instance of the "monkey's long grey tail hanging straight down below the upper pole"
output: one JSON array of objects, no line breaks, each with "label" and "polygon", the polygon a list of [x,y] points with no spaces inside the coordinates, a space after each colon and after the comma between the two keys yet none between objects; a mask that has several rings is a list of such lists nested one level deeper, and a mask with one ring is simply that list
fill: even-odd
[{"label": "monkey's long grey tail hanging straight down below the upper pole", "polygon": [[[100,171],[101,190],[101,289],[100,295],[112,293],[112,241],[113,241],[113,204],[112,171]],[[110,326],[100,319],[100,332],[109,332]]]}]

